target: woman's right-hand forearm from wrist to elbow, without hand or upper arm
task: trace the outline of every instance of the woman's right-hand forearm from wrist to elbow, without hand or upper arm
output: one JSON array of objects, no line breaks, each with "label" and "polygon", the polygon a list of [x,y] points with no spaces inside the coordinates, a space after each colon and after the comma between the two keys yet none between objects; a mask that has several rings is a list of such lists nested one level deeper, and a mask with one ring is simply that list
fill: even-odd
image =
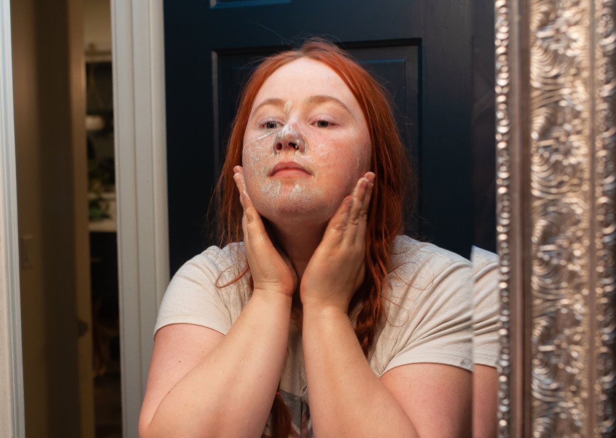
[{"label": "woman's right-hand forearm from wrist to elbow, without hand or upper arm", "polygon": [[304,307],[302,337],[315,436],[416,436],[370,368],[344,312]]}]

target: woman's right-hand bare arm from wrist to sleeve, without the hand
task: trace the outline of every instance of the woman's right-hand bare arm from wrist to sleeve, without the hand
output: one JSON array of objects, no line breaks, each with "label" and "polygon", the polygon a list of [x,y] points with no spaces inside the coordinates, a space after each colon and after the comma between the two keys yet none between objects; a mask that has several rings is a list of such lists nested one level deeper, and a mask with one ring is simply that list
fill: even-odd
[{"label": "woman's right-hand bare arm from wrist to sleeve, without the hand", "polygon": [[379,379],[342,313],[305,310],[303,336],[316,436],[470,436],[469,371],[416,363]]}]

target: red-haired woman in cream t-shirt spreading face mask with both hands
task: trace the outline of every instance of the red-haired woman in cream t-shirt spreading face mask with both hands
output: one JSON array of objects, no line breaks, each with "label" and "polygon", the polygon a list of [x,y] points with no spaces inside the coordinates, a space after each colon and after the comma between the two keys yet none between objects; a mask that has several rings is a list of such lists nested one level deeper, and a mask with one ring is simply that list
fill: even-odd
[{"label": "red-haired woman in cream t-shirt spreading face mask with both hands", "polygon": [[174,276],[142,437],[445,437],[471,424],[471,274],[401,236],[407,159],[335,46],[266,59],[219,181],[219,247]]}]

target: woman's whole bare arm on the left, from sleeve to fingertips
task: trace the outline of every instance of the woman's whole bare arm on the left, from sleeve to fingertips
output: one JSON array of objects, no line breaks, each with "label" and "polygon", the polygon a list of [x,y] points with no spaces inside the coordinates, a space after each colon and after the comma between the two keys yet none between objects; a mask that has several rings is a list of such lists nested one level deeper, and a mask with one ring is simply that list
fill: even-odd
[{"label": "woman's whole bare arm on the left, from sleeve to fingertips", "polygon": [[[141,437],[261,436],[286,357],[296,275],[269,240],[249,199],[243,228],[254,291],[226,336],[161,328],[139,420]],[[259,257],[255,257],[259,254]]]}]

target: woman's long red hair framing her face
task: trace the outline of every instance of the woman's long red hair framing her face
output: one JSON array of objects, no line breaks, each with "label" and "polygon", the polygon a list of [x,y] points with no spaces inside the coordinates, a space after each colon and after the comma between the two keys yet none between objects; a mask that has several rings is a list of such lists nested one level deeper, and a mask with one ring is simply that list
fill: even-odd
[{"label": "woman's long red hair framing her face", "polygon": [[[352,309],[357,302],[361,303],[355,334],[363,353],[368,356],[377,326],[383,318],[392,245],[395,237],[404,231],[405,207],[413,205],[414,200],[409,201],[406,196],[412,193],[408,190],[411,181],[408,159],[386,92],[346,52],[322,39],[310,39],[299,49],[268,57],[254,71],[240,99],[227,145],[227,157],[217,184],[219,243],[222,247],[243,241],[243,213],[233,180],[233,167],[241,165],[243,138],[254,98],[275,70],[300,58],[322,62],[340,76],[359,102],[370,132],[370,170],[376,177],[368,211],[365,245],[367,274],[349,306]],[[274,436],[286,437],[290,430],[290,416],[279,395],[272,412],[275,418]]]}]

